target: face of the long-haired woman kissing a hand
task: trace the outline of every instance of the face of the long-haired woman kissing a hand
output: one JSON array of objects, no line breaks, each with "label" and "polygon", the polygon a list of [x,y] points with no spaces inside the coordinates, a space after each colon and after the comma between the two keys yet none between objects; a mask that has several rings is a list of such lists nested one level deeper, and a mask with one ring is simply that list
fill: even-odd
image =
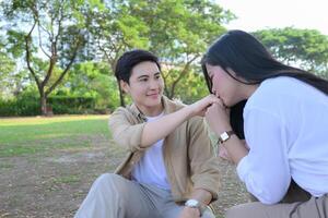
[{"label": "face of the long-haired woman kissing a hand", "polygon": [[[241,99],[238,95],[239,83],[232,78],[220,65],[206,64],[208,75],[212,81],[212,93],[219,97],[226,107],[234,106]],[[230,71],[235,75],[233,71]]]}]

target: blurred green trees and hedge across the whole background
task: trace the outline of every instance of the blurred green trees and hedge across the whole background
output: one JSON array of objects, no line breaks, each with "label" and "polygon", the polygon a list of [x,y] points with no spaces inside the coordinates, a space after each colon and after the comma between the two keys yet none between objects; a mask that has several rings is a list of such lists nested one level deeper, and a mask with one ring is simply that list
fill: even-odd
[{"label": "blurred green trees and hedge across the whole background", "polygon": [[[192,102],[208,94],[202,55],[236,19],[211,0],[8,0],[0,17],[0,117],[109,113],[129,104],[113,71],[133,48],[161,58],[166,96]],[[254,34],[279,60],[328,78],[328,36]]]}]

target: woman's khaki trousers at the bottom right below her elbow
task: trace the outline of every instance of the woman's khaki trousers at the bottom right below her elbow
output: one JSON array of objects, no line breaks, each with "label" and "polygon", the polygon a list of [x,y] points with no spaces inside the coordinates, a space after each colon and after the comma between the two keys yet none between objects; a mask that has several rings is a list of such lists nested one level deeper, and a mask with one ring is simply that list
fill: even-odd
[{"label": "woman's khaki trousers at the bottom right below her elbow", "polygon": [[226,211],[225,218],[328,218],[328,194],[311,197],[292,181],[281,203],[265,205],[253,202],[237,205]]}]

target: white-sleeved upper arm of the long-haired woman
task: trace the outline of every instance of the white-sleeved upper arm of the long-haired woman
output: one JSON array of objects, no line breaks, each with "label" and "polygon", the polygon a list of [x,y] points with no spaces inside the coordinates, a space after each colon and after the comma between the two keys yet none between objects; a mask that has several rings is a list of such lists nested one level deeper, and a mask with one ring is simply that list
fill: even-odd
[{"label": "white-sleeved upper arm of the long-haired woman", "polygon": [[245,135],[250,150],[238,164],[237,173],[261,203],[276,204],[291,182],[286,126],[281,117],[250,109],[245,111]]}]

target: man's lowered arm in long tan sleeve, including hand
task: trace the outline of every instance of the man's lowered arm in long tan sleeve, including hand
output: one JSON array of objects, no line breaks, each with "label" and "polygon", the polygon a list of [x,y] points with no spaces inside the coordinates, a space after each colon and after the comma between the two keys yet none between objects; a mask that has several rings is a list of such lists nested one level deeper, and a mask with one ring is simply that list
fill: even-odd
[{"label": "man's lowered arm in long tan sleeve, including hand", "polygon": [[[209,205],[218,198],[219,192],[219,162],[215,158],[208,129],[204,120],[194,118],[189,125],[189,149],[191,180],[194,190],[189,198],[197,199],[202,205]],[[185,207],[180,218],[199,217],[200,213],[196,208]]]}]

